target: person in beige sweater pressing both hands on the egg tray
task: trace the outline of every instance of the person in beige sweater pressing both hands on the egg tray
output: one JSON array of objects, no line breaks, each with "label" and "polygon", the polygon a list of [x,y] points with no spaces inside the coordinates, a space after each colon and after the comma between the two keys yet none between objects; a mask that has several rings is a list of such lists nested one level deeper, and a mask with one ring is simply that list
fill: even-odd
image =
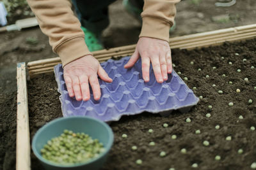
[{"label": "person in beige sweater pressing both hands on the egg tray", "polygon": [[[102,48],[100,42],[93,47],[86,40],[90,39],[90,36],[99,34],[108,26],[108,5],[114,0],[73,0],[79,19],[74,15],[72,3],[69,0],[27,1],[36,15],[40,29],[49,36],[52,50],[61,58],[69,96],[76,97],[77,101],[82,99],[88,101],[90,83],[93,98],[99,100],[101,93],[98,76],[109,83],[113,80],[90,52],[90,50]],[[158,83],[163,83],[168,79],[168,74],[172,73],[169,30],[176,14],[175,4],[179,1],[144,0],[139,40],[135,52],[124,67],[128,69],[134,66],[141,57],[141,69],[145,82],[149,81],[150,63]],[[126,2],[132,6],[132,2],[136,1],[127,0]],[[85,36],[89,34],[85,40],[84,33]],[[86,43],[90,46],[90,50]]]}]

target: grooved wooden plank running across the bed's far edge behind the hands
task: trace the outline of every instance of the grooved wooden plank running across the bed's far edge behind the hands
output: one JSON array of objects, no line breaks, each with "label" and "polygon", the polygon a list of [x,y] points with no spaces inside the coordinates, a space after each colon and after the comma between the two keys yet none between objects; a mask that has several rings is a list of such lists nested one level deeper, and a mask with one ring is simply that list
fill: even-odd
[{"label": "grooved wooden plank running across the bed's far edge behind the hands", "polygon": [[[170,47],[188,49],[207,47],[211,45],[220,45],[225,41],[239,41],[256,37],[256,24],[219,29],[215,31],[201,32],[186,36],[170,38]],[[108,50],[99,50],[92,52],[93,56],[100,62],[111,59],[111,57],[124,57],[132,55],[136,45],[120,46]],[[47,73],[53,70],[54,65],[61,63],[60,57],[52,59],[36,60],[28,62],[29,76],[35,74]]]}]

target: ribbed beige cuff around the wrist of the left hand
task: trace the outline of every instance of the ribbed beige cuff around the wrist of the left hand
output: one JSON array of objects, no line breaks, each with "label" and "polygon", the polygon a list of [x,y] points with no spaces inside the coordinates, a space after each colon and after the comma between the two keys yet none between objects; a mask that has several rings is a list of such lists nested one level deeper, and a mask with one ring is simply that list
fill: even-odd
[{"label": "ribbed beige cuff around the wrist of the left hand", "polygon": [[69,39],[62,45],[58,46],[56,53],[60,56],[63,67],[69,62],[79,59],[84,55],[92,54],[88,50],[84,38],[81,36]]}]

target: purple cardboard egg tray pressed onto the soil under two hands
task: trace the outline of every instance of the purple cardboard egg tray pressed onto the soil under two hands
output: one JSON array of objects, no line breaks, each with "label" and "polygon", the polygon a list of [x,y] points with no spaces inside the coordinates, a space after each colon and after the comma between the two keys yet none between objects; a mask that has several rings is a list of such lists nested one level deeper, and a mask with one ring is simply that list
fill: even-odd
[{"label": "purple cardboard egg tray pressed onto the soil under two hands", "polygon": [[89,101],[76,101],[74,97],[69,97],[62,65],[55,66],[63,116],[83,115],[109,122],[119,120],[122,115],[136,115],[143,111],[163,116],[170,115],[173,110],[184,113],[198,103],[198,97],[174,70],[172,74],[168,74],[168,80],[157,83],[150,66],[150,81],[145,83],[141,73],[141,60],[131,69],[124,69],[129,58],[109,59],[101,63],[113,82],[106,83],[99,79],[102,94],[99,101],[93,99],[91,88]]}]

